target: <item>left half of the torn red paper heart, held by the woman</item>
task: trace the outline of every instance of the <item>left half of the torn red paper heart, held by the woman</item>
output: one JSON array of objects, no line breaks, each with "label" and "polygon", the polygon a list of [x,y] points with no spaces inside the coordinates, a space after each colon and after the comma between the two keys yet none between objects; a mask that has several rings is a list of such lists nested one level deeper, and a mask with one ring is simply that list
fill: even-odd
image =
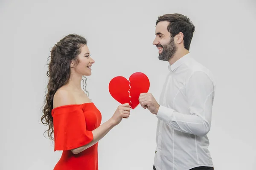
[{"label": "left half of the torn red paper heart, held by the woman", "polygon": [[129,103],[131,106],[130,82],[122,76],[117,76],[109,82],[109,92],[111,96],[121,104]]}]

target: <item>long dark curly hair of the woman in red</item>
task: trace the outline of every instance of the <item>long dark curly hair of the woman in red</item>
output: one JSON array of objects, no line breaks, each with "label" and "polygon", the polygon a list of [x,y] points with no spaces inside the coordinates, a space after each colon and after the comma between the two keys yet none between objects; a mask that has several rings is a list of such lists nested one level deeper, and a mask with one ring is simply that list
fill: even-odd
[{"label": "long dark curly hair of the woman in red", "polygon": [[[48,133],[48,137],[52,140],[54,140],[54,137],[52,137],[54,133],[52,118],[53,96],[59,88],[69,81],[71,73],[70,63],[71,61],[79,63],[77,56],[81,53],[83,45],[87,45],[87,40],[84,37],[77,34],[69,34],[53,46],[51,55],[47,59],[47,61],[50,59],[48,64],[49,71],[47,71],[49,82],[41,122],[44,125],[48,125],[48,129],[45,132]],[[84,91],[86,91],[86,77],[82,79],[82,82]]]}]

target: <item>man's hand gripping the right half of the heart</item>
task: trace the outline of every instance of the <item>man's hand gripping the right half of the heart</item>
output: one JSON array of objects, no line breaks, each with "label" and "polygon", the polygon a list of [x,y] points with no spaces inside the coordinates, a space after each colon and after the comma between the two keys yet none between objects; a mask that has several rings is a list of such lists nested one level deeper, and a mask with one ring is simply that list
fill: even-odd
[{"label": "man's hand gripping the right half of the heart", "polygon": [[141,93],[139,102],[144,109],[148,108],[151,113],[157,114],[160,105],[151,93]]}]

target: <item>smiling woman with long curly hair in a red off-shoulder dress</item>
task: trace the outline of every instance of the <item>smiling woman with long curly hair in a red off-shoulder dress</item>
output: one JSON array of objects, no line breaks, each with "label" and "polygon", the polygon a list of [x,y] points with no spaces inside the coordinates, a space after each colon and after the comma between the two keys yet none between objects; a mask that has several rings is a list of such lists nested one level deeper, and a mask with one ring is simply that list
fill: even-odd
[{"label": "smiling woman with long curly hair in a red off-shoulder dress", "polygon": [[98,141],[129,117],[130,106],[119,105],[111,119],[100,125],[100,111],[81,88],[82,77],[91,75],[94,63],[84,37],[67,35],[52,48],[50,58],[41,121],[49,127],[54,151],[63,150],[54,170],[98,170]]}]

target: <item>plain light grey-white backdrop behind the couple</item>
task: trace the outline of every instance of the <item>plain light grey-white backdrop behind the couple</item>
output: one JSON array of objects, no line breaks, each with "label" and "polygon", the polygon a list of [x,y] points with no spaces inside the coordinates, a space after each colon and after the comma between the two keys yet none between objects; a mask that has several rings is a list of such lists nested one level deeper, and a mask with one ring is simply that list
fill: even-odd
[{"label": "plain light grey-white backdrop behind the couple", "polygon": [[[88,40],[96,62],[87,90],[102,122],[119,105],[108,91],[113,77],[143,72],[159,100],[169,70],[152,42],[166,13],[192,20],[190,52],[215,76],[208,134],[215,170],[255,170],[255,0],[0,0],[0,170],[51,170],[61,156],[43,135],[41,107],[47,57],[67,34]],[[152,170],[156,125],[140,105],[131,111],[99,142],[99,170]]]}]

